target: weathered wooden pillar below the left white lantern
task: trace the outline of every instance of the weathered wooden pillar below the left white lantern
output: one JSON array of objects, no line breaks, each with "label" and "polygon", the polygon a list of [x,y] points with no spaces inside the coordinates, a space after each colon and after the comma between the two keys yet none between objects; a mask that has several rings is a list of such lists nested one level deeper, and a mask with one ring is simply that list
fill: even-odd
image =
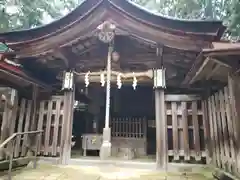
[{"label": "weathered wooden pillar below the left white lantern", "polygon": [[62,137],[61,137],[61,154],[60,164],[68,164],[71,158],[71,141],[72,141],[72,124],[73,124],[73,105],[74,105],[73,91],[64,92],[64,116],[62,125]]}]

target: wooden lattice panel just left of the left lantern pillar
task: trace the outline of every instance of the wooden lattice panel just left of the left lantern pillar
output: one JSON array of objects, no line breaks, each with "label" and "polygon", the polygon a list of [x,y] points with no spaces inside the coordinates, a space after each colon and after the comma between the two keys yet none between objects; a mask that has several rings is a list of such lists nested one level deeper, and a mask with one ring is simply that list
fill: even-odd
[{"label": "wooden lattice panel just left of the left lantern pillar", "polygon": [[63,138],[63,98],[52,96],[50,100],[40,102],[37,129],[44,130],[41,137],[40,154],[42,156],[59,156]]}]

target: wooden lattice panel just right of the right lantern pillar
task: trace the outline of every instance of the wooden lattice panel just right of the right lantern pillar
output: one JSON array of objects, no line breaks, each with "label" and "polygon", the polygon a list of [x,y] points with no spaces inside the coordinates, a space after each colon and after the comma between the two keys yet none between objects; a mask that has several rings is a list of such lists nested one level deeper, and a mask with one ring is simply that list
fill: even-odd
[{"label": "wooden lattice panel just right of the right lantern pillar", "polygon": [[[168,125],[168,156],[171,161],[192,161],[205,163],[208,126],[205,116],[205,102],[167,101],[166,120]],[[155,120],[148,126],[155,127]]]}]

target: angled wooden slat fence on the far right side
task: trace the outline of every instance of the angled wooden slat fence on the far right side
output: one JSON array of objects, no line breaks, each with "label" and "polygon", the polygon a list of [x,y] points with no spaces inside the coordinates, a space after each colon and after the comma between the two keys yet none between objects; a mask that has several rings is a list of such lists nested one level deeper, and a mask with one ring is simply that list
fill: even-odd
[{"label": "angled wooden slat fence on the far right side", "polygon": [[238,130],[233,123],[233,101],[231,90],[226,86],[208,98],[210,121],[210,154],[212,164],[232,174],[237,173]]}]

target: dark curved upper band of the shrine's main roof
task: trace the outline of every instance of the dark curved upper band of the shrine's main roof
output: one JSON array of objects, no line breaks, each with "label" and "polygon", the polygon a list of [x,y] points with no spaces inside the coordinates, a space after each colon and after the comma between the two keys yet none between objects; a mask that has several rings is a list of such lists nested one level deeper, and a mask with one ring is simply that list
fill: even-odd
[{"label": "dark curved upper band of the shrine's main roof", "polygon": [[85,0],[75,10],[59,20],[33,29],[2,33],[0,39],[5,39],[7,42],[21,42],[51,36],[80,22],[98,7],[120,11],[128,18],[170,34],[210,36],[216,40],[220,39],[225,30],[221,21],[180,20],[164,17],[151,13],[128,0]]}]

